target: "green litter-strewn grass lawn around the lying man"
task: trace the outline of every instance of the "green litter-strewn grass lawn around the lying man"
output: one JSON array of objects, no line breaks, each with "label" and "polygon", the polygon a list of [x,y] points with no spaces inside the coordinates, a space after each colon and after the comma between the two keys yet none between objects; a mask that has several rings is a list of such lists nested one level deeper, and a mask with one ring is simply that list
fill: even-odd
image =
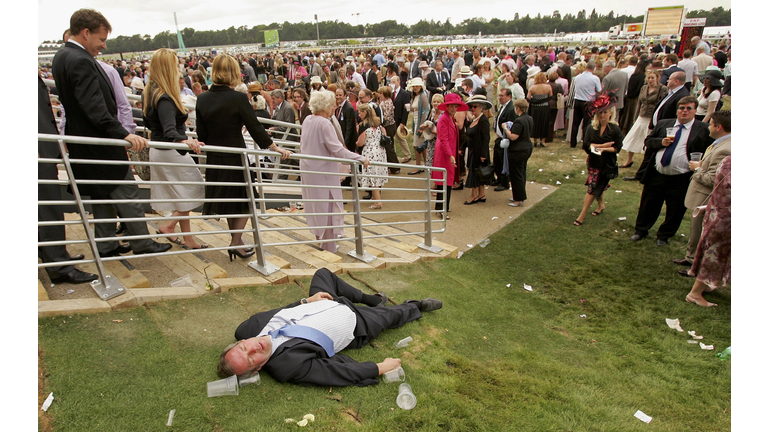
[{"label": "green litter-strewn grass lawn around the lying man", "polygon": [[[356,274],[398,302],[445,302],[372,346],[345,352],[360,361],[402,358],[418,398],[413,410],[396,406],[394,384],[333,388],[337,401],[327,387],[278,384],[266,374],[238,397],[206,397],[235,327],[306,295],[288,284],[40,319],[46,392],[56,397],[48,411],[53,430],[161,430],[171,409],[170,429],[178,431],[294,430],[284,419],[307,413],[317,419],[308,428],[323,431],[729,430],[731,364],[714,354],[730,345],[730,289],[709,295],[720,305],[714,309],[684,301],[693,281],[670,260],[682,256],[688,219],[666,248],[628,240],[636,183],[614,181],[605,214],[573,227],[585,187],[583,162],[571,165],[571,155],[582,154],[565,144],[537,149],[530,180],[563,185],[492,235],[488,247],[458,260]],[[680,318],[715,351],[686,343],[665,318]],[[394,348],[406,336],[411,345]],[[360,424],[352,418],[358,407]],[[633,417],[637,410],[653,417],[650,425]]]}]

